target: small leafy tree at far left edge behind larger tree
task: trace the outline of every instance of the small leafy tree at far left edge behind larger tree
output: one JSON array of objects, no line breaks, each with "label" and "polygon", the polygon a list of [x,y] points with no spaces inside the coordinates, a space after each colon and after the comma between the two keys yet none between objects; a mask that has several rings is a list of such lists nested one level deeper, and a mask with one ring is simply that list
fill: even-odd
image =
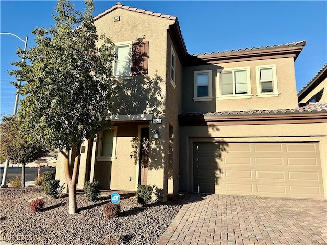
[{"label": "small leafy tree at far left edge behind larger tree", "polygon": [[4,117],[0,124],[0,154],[10,161],[21,164],[21,187],[25,187],[25,164],[45,156],[39,143],[31,143],[19,132],[16,116]]}]

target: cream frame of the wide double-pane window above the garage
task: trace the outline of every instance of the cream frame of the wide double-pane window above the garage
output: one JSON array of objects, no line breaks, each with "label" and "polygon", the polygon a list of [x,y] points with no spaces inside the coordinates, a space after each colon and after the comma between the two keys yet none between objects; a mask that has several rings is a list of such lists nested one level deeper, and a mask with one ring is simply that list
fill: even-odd
[{"label": "cream frame of the wide double-pane window above the garage", "polygon": [[[246,70],[246,80],[247,80],[247,93],[244,94],[235,94],[235,80],[234,80],[234,71],[238,70]],[[233,94],[221,94],[221,78],[224,72],[232,71],[233,76]],[[217,69],[217,100],[230,100],[230,99],[250,99],[252,98],[252,90],[251,90],[251,72],[250,66],[244,67],[235,67],[235,68],[222,68]]]}]

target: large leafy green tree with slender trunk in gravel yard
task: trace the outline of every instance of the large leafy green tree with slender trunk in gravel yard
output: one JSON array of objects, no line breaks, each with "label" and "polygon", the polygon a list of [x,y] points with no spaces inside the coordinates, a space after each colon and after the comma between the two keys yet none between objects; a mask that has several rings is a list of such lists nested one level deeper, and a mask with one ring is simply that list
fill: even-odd
[{"label": "large leafy green tree with slender trunk in gravel yard", "polygon": [[[81,144],[110,125],[110,97],[116,91],[112,78],[114,44],[94,25],[92,0],[84,12],[69,0],[59,0],[50,28],[36,28],[36,46],[18,50],[26,62],[10,72],[26,81],[21,93],[21,129],[32,142],[44,142],[65,157],[69,214],[77,211],[76,182]],[[96,45],[101,44],[100,48]]]}]

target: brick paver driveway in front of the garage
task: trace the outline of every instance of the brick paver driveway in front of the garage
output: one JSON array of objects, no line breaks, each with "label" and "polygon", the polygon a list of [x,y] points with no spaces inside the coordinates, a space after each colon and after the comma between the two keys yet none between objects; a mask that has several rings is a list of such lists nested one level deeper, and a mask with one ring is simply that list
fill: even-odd
[{"label": "brick paver driveway in front of the garage", "polygon": [[327,244],[327,201],[192,195],[157,245]]}]

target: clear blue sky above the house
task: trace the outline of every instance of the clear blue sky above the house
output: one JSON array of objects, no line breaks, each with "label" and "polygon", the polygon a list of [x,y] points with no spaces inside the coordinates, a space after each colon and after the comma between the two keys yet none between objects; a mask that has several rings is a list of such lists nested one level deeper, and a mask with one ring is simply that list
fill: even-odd
[{"label": "clear blue sky above the house", "polygon": [[[94,16],[118,1],[95,1]],[[272,46],[306,40],[295,62],[297,90],[327,63],[326,1],[120,1],[122,4],[177,16],[190,54]],[[83,9],[82,1],[74,1]],[[56,1],[0,1],[0,32],[11,32],[34,45],[32,30],[53,24]],[[7,70],[19,60],[17,47],[24,43],[0,35],[0,117],[13,113],[15,78]]]}]

